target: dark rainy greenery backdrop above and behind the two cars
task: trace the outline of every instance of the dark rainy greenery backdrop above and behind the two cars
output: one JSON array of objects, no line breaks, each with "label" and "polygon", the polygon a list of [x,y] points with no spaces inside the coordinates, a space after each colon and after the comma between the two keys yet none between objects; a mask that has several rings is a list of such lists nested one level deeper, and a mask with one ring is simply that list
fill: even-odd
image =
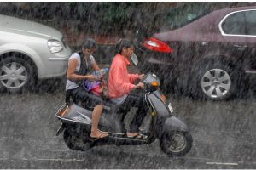
[{"label": "dark rainy greenery backdrop above and behind the two cars", "polygon": [[[256,5],[255,2],[201,2],[196,8],[230,8]],[[119,37],[136,38],[136,31],[154,32],[154,16],[165,10],[193,5],[195,2],[30,2],[0,3],[0,14],[37,21],[61,31],[71,47],[84,37],[100,44],[113,44]],[[182,13],[182,12],[181,12]]]}]

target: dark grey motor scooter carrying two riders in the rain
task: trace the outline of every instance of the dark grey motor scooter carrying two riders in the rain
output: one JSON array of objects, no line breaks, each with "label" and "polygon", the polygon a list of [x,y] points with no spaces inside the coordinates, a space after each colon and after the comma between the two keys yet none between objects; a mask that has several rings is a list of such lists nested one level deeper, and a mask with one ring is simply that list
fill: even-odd
[{"label": "dark grey motor scooter carrying two riders in the rain", "polygon": [[[132,60],[133,61],[133,60]],[[135,61],[136,63],[136,57]],[[59,135],[64,131],[64,141],[67,147],[72,150],[89,150],[99,145],[138,145],[150,144],[155,139],[160,140],[160,148],[168,156],[184,156],[192,147],[193,139],[189,133],[189,127],[173,116],[172,105],[166,105],[165,97],[160,92],[159,78],[148,73],[141,80],[144,83],[143,97],[149,117],[147,128],[143,129],[143,138],[127,137],[125,133],[121,105],[114,105],[107,102],[104,105],[102,116],[99,122],[99,129],[108,133],[108,137],[102,139],[90,138],[91,110],[79,105],[62,105],[55,112],[55,116],[61,122],[58,129]]]}]

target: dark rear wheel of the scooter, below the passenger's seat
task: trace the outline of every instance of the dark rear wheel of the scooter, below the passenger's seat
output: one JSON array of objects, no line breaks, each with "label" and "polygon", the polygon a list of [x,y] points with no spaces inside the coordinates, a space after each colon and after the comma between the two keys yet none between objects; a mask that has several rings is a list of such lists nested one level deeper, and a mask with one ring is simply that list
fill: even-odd
[{"label": "dark rear wheel of the scooter, below the passenger's seat", "polygon": [[88,136],[86,134],[81,135],[66,129],[64,131],[63,139],[67,147],[71,150],[85,151],[90,149],[90,141],[88,140]]}]

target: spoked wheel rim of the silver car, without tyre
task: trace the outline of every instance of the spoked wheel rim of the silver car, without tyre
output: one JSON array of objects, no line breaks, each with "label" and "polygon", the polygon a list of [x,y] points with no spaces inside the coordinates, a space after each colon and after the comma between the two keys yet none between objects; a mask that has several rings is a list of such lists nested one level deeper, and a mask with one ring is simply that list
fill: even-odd
[{"label": "spoked wheel rim of the silver car, without tyre", "polygon": [[27,78],[26,67],[16,62],[3,65],[0,70],[0,81],[6,88],[20,88],[27,82]]}]

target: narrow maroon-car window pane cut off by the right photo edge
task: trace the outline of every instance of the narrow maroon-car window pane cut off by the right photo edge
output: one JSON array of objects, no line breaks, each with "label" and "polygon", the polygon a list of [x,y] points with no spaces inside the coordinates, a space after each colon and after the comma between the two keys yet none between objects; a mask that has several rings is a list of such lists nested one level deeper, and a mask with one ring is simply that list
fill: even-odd
[{"label": "narrow maroon-car window pane cut off by the right photo edge", "polygon": [[256,35],[256,10],[245,12],[246,18],[246,34]]}]

